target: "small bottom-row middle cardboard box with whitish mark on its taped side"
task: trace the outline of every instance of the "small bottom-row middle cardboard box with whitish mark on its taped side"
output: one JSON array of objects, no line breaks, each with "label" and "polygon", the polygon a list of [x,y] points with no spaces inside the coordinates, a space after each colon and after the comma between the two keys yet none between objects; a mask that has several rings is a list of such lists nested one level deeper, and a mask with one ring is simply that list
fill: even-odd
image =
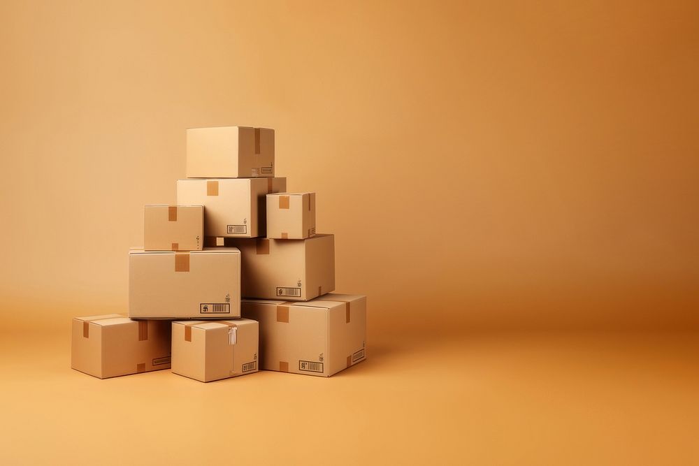
[{"label": "small bottom-row middle cardboard box with whitish mark on its taped side", "polygon": [[256,321],[173,322],[173,372],[209,382],[257,372]]}]

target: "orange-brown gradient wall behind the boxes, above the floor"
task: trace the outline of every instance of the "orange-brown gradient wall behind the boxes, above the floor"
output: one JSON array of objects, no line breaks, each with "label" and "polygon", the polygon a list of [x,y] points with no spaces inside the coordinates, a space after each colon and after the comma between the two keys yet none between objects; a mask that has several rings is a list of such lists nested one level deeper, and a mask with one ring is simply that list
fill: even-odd
[{"label": "orange-brown gradient wall behind the boxes, above the floor", "polygon": [[2,295],[123,310],[185,128],[248,124],[375,330],[696,326],[699,7],[657,3],[3,1]]}]

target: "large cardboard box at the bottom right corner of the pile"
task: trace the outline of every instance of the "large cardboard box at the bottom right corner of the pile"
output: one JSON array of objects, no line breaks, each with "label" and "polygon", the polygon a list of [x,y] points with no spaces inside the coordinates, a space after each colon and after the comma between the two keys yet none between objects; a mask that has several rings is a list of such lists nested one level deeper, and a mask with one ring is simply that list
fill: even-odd
[{"label": "large cardboard box at the bottom right corner of the pile", "polygon": [[240,305],[245,318],[259,321],[261,369],[329,377],[366,358],[366,296]]}]

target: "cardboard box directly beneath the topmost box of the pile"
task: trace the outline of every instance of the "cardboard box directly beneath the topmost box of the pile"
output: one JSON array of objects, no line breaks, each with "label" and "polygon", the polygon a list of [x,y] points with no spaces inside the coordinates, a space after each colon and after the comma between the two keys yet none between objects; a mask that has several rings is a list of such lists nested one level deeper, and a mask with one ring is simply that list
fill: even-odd
[{"label": "cardboard box directly beneath the topmost box of the pile", "polygon": [[286,178],[178,180],[177,201],[204,206],[206,236],[255,238],[266,233],[265,196],[286,190]]}]

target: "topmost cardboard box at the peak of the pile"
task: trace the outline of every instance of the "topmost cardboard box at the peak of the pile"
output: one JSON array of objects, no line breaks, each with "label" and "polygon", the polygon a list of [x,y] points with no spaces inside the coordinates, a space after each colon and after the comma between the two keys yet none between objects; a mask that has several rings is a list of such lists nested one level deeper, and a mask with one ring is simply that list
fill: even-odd
[{"label": "topmost cardboard box at the peak of the pile", "polygon": [[188,178],[273,176],[273,129],[248,126],[187,129]]}]

